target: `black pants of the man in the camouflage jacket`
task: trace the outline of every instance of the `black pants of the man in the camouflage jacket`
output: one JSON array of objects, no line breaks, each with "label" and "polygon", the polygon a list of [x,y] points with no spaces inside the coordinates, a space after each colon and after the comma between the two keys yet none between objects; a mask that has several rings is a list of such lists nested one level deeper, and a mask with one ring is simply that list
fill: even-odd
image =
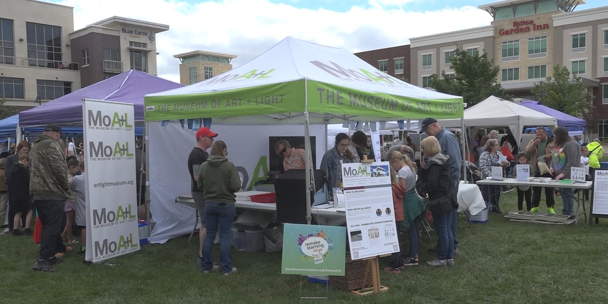
[{"label": "black pants of the man in the camouflage jacket", "polygon": [[52,258],[57,252],[64,252],[66,246],[61,240],[61,221],[63,219],[63,201],[34,201],[38,217],[42,223],[42,238],[40,240],[41,260]]}]

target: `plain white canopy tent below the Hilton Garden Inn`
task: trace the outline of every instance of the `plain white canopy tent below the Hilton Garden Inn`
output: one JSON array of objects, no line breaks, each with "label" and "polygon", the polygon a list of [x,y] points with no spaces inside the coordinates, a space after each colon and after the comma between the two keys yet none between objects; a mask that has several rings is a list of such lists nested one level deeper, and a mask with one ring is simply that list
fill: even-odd
[{"label": "plain white canopy tent below the Hilton Garden Inn", "polygon": [[[555,117],[548,116],[539,111],[503,100],[494,95],[486,98],[477,105],[467,108],[464,114],[465,127],[479,126],[508,126],[517,142],[521,141],[525,126],[549,126],[553,129],[558,126]],[[460,120],[444,120],[441,126],[460,126]]]}]

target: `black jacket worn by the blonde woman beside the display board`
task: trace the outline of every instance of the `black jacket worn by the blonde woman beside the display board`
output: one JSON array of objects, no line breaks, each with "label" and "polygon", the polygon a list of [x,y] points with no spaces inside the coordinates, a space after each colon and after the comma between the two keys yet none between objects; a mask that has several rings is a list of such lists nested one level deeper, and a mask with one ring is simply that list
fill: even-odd
[{"label": "black jacket worn by the blonde woman beside the display board", "polygon": [[449,159],[449,156],[441,153],[431,157],[418,173],[416,191],[419,194],[427,193],[430,201],[449,196],[452,198],[452,207],[458,208],[456,193],[450,178]]}]

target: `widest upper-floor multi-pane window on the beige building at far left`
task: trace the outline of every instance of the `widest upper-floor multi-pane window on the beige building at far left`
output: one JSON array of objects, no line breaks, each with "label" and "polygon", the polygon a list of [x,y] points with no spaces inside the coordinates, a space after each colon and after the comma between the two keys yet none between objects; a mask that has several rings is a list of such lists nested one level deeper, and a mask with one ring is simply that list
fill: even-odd
[{"label": "widest upper-floor multi-pane window on the beige building at far left", "polygon": [[[27,64],[59,69],[61,64],[61,27],[26,22]],[[63,66],[63,64],[61,64]]]}]

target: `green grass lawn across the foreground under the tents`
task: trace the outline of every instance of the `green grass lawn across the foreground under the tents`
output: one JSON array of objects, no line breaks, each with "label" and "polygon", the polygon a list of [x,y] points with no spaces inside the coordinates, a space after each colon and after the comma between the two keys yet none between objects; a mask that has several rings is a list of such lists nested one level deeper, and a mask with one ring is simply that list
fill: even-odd
[{"label": "green grass lawn across the foreground under the tents", "polygon": [[[503,194],[502,210],[516,209],[516,192]],[[541,202],[541,210],[545,210]],[[556,198],[556,211],[561,210]],[[388,292],[358,297],[330,286],[330,303],[606,303],[608,219],[589,227],[458,220],[455,268],[421,263],[400,274],[381,271]],[[281,275],[281,254],[233,252],[236,274],[202,274],[197,242],[187,237],[148,244],[139,252],[84,265],[68,252],[54,273],[32,270],[38,247],[29,237],[0,236],[1,303],[295,303],[300,277]],[[420,260],[431,260],[423,238]],[[217,257],[217,245],[214,255]],[[604,248],[604,249],[602,249]],[[381,268],[389,263],[381,260]],[[304,295],[325,295],[304,283]],[[316,303],[306,300],[304,303]]]}]

